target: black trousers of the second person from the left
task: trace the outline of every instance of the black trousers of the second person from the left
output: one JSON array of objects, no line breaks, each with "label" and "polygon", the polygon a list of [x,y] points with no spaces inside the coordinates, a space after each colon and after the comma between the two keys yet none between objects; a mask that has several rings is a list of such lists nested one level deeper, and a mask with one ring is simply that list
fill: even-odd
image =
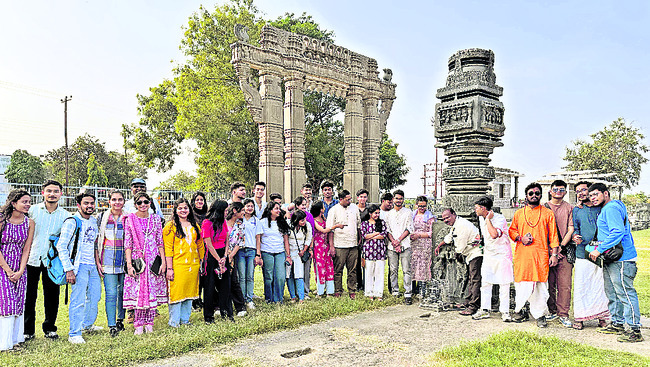
[{"label": "black trousers of the second person from the left", "polygon": [[27,294],[25,296],[25,331],[27,335],[35,333],[36,325],[36,298],[38,298],[38,282],[43,278],[43,306],[45,307],[45,320],[43,332],[56,331],[56,316],[59,312],[59,286],[47,275],[47,268],[27,265]]}]

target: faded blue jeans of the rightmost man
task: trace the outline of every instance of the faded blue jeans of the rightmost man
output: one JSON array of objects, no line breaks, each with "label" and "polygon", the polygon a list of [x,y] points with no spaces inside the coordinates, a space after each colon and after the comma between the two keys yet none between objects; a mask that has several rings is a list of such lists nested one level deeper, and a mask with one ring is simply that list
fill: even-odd
[{"label": "faded blue jeans of the rightmost man", "polygon": [[634,330],[641,327],[639,296],[634,289],[635,261],[615,261],[603,266],[605,294],[609,313],[615,325],[628,324]]}]

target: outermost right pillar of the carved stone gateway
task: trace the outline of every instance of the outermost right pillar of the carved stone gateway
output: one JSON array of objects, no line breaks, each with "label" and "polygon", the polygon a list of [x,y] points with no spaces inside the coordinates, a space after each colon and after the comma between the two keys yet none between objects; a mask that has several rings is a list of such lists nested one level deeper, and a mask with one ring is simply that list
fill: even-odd
[{"label": "outermost right pillar of the carved stone gateway", "polygon": [[363,187],[370,193],[368,195],[370,203],[379,202],[381,127],[377,104],[377,97],[363,99]]}]

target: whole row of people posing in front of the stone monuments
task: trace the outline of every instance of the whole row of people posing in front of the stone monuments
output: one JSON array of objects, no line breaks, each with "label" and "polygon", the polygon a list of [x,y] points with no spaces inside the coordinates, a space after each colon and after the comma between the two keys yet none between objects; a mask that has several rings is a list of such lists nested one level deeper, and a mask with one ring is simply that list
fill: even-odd
[{"label": "whole row of people posing in front of the stone monuments", "polygon": [[[76,213],[64,210],[59,205],[63,187],[56,181],[43,184],[44,201],[33,206],[27,191],[12,191],[0,213],[0,350],[34,338],[39,283],[43,332],[58,338],[60,287],[47,269],[53,235],[59,236],[56,250],[72,288],[68,340],[75,344],[85,342],[84,332],[102,329],[94,325],[102,280],[110,335],[125,330],[125,322],[133,322],[138,335],[153,331],[163,304],[169,304],[172,327],[189,324],[192,309],[202,309],[206,323],[214,322],[217,310],[231,321],[246,315],[258,298],[255,266],[262,267],[266,302],[282,303],[286,284],[290,301],[302,303],[311,291],[312,264],[316,296],[341,297],[346,271],[348,296],[354,299],[363,290],[373,300],[384,297],[386,262],[388,291],[400,296],[401,265],[404,303],[410,305],[432,281],[432,262],[444,244],[453,246],[466,266],[462,315],[489,318],[492,288],[498,285],[504,321],[525,321],[529,308],[540,327],[558,318],[564,326],[582,329],[584,321],[597,319],[599,331],[622,334],[619,341],[643,340],[626,208],[601,183],[578,183],[576,206],[563,200],[563,181],[552,184],[545,205],[540,205],[541,186],[532,183],[526,187],[526,206],[509,227],[489,197],[475,203],[478,227],[453,208],[444,209],[441,219],[451,230],[439,244],[431,238],[437,217],[424,196],[411,210],[401,190],[383,194],[378,205],[368,203],[365,189],[356,193],[356,204],[347,190],[336,199],[330,182],[320,189],[322,200],[314,200],[312,186],[305,184],[290,203],[277,193],[266,202],[264,182],[255,183],[251,198],[244,184],[234,183],[228,201],[209,204],[201,192],[178,199],[167,220],[139,178],[132,181],[132,199],[111,190],[110,209],[97,216],[96,198],[88,191],[76,196]],[[597,261],[617,245],[623,249],[618,261]]]}]

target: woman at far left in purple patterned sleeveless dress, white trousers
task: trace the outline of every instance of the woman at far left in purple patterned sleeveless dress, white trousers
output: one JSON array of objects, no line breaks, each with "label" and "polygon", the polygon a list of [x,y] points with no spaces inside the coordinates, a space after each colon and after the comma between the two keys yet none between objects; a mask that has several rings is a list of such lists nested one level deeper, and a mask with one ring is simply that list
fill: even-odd
[{"label": "woman at far left in purple patterned sleeveless dress, white trousers", "polygon": [[0,212],[0,351],[15,350],[25,341],[25,269],[34,238],[34,221],[27,217],[31,200],[27,191],[13,190]]}]

